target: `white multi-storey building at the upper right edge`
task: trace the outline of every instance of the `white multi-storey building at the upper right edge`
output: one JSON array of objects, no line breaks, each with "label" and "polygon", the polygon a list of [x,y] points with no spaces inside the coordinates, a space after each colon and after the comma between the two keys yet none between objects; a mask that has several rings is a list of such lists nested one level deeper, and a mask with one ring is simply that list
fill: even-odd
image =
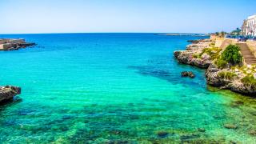
[{"label": "white multi-storey building at the upper right edge", "polygon": [[242,35],[256,36],[256,14],[244,20],[242,24]]}]

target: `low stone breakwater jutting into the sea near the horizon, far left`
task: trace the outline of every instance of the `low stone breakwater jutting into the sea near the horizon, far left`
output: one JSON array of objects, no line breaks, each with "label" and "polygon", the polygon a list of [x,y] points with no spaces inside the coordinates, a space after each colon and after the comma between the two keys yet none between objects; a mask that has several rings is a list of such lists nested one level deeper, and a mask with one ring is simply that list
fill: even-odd
[{"label": "low stone breakwater jutting into the sea near the horizon, far left", "polygon": [[0,50],[18,50],[21,48],[26,48],[28,46],[36,45],[34,42],[26,42],[23,38],[4,38],[0,39]]}]

